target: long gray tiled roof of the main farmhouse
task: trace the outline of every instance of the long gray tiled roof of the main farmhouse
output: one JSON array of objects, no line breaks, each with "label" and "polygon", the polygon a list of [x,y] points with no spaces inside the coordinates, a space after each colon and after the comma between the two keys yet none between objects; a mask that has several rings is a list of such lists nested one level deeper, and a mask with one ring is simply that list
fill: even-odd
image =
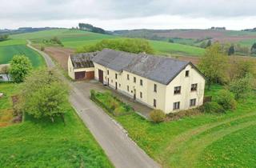
[{"label": "long gray tiled roof of the main farmhouse", "polygon": [[110,49],[99,52],[93,58],[93,62],[119,72],[126,70],[164,85],[170,83],[181,70],[191,64],[174,58],[149,54],[130,54]]}]

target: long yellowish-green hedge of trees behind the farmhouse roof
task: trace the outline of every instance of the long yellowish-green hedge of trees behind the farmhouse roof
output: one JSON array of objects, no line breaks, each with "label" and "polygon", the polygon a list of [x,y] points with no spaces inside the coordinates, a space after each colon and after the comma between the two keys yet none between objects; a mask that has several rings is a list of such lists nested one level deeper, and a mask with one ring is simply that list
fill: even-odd
[{"label": "long yellowish-green hedge of trees behind the farmhouse roof", "polygon": [[100,51],[105,48],[113,50],[122,50],[130,53],[147,53],[153,54],[154,50],[151,48],[149,42],[139,38],[120,38],[120,39],[105,39],[96,43],[93,46],[84,46],[77,50],[78,53],[87,53]]}]

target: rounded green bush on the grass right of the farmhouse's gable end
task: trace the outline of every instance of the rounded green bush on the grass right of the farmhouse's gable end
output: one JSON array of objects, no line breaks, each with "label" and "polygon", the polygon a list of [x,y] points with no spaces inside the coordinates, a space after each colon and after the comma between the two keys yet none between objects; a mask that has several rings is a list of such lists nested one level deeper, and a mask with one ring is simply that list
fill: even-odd
[{"label": "rounded green bush on the grass right of the farmhouse's gable end", "polygon": [[237,105],[234,95],[228,90],[220,90],[215,101],[218,102],[218,104],[225,110],[235,110]]}]

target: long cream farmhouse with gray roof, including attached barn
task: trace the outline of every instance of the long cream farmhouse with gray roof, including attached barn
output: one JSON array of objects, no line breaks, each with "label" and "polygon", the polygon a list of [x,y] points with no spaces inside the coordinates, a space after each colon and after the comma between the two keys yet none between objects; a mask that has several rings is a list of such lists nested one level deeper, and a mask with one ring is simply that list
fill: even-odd
[{"label": "long cream farmhouse with gray roof, including attached barn", "polygon": [[70,56],[68,66],[70,78],[95,78],[166,114],[203,103],[205,78],[191,62],[104,49]]}]

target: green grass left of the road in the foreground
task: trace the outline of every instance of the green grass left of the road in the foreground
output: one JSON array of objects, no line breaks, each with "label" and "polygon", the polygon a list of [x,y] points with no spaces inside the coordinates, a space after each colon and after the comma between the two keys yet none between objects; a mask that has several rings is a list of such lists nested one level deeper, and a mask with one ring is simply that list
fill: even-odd
[{"label": "green grass left of the road in the foreground", "polygon": [[[1,123],[19,89],[0,83],[0,90],[6,94],[0,99]],[[53,123],[26,116],[26,122],[0,127],[0,167],[113,167],[68,102],[65,119],[66,126],[60,118]]]}]

